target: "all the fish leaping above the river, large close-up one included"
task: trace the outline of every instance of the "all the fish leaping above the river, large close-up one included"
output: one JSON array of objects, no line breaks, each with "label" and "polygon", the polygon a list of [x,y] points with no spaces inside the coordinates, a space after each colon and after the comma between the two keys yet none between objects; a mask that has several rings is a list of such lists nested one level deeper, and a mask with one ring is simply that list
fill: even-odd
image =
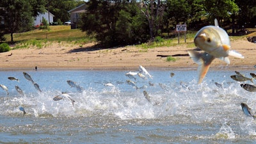
[{"label": "all the fish leaping above the river, large close-up one included", "polygon": [[[192,60],[198,64],[198,72],[199,72],[198,84],[202,83],[205,75],[207,74],[207,72],[209,70],[211,62],[215,58],[219,58],[220,60],[225,61],[227,64],[230,64],[230,60],[228,59],[228,56],[234,56],[236,58],[241,58],[241,59],[244,58],[244,56],[242,54],[239,54],[238,52],[230,49],[229,36],[224,29],[219,27],[218,20],[216,20],[216,19],[214,20],[214,25],[215,26],[205,26],[202,29],[200,29],[198,31],[198,33],[196,33],[194,43],[195,43],[196,47],[198,47],[199,49],[201,49],[204,52],[188,51],[188,54],[192,58]],[[253,83],[253,79],[256,79],[256,74],[250,73],[250,76],[252,76],[252,78],[250,78],[250,77],[244,76],[240,72],[237,72],[237,71],[235,71],[235,72],[236,72],[236,75],[230,76],[235,81],[239,81],[239,82],[250,81],[251,83]],[[23,72],[23,75],[28,81],[31,81],[31,83],[35,86],[35,88],[36,88],[36,90],[38,90],[38,92],[42,92],[42,90],[40,90],[40,88],[39,88],[39,85],[37,83],[35,83],[35,81],[33,81],[33,79],[31,78],[31,76],[28,73]],[[127,81],[126,81],[127,84],[131,85],[136,90],[147,88],[147,85],[143,85],[141,87],[138,87],[136,85],[136,82],[134,82],[134,81],[136,81],[136,79],[138,77],[140,77],[141,79],[148,79],[148,78],[153,79],[153,76],[151,76],[149,74],[149,72],[146,70],[146,68],[142,67],[141,65],[138,69],[138,72],[127,72],[125,74],[125,76],[130,78],[130,79],[127,79]],[[173,77],[173,76],[175,76],[175,74],[173,72],[171,72],[170,77]],[[19,82],[19,79],[17,79],[16,77],[8,77],[8,79],[10,79],[11,81]],[[133,79],[134,81],[132,81],[131,79]],[[74,81],[67,80],[67,84],[73,88],[76,88],[78,92],[83,92],[83,90],[84,90],[84,88],[79,86]],[[222,84],[219,84],[219,83],[215,83],[215,84],[219,88],[223,88]],[[149,81],[148,85],[154,86],[154,84],[151,83],[150,81]],[[180,85],[185,86],[186,84],[180,82]],[[244,83],[244,84],[240,84],[240,85],[244,90],[246,90],[248,92],[256,92],[256,86],[253,84]],[[105,84],[105,86],[115,87],[111,83]],[[161,83],[159,83],[159,86],[163,89],[166,88],[166,86],[164,86],[164,84],[161,84]],[[3,84],[0,84],[0,87],[3,88],[3,90],[8,95],[8,88],[6,86],[4,86]],[[19,86],[15,86],[15,89],[17,90],[18,93],[20,93],[20,95],[24,95],[24,93],[19,88]],[[148,102],[151,102],[150,95],[148,95],[146,90],[143,91],[143,95],[144,95],[145,99],[148,100]],[[68,93],[63,92],[60,95],[56,95],[52,98],[52,100],[55,100],[55,101],[63,100],[63,99],[71,100],[72,106],[74,106],[75,100],[72,99],[72,97],[70,95],[68,95]],[[251,116],[252,118],[256,118],[256,116],[252,114],[251,108],[244,102],[241,102],[241,108],[246,116]],[[20,111],[23,112],[23,116],[24,116],[26,114],[25,109],[22,106],[19,106],[19,109],[20,109]]]}]

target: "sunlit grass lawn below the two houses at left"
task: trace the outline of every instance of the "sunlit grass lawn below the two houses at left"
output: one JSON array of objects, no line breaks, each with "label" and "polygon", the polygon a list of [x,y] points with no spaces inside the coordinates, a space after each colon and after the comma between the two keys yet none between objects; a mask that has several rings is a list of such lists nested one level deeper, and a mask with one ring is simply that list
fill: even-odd
[{"label": "sunlit grass lawn below the two houses at left", "polygon": [[[46,39],[47,33],[47,39]],[[10,42],[10,34],[4,35],[6,42]],[[85,32],[80,29],[70,29],[70,26],[50,26],[50,31],[35,29],[24,33],[13,34],[15,47],[13,49],[37,48],[42,49],[49,47],[53,42],[83,45],[89,42],[94,42],[95,39],[90,38]]]}]

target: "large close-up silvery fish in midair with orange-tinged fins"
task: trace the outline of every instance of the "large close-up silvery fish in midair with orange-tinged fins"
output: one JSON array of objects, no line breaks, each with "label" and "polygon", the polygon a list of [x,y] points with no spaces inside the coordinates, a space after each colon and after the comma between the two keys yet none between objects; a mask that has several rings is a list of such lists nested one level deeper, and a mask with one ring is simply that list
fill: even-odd
[{"label": "large close-up silvery fish in midair with orange-tinged fins", "polygon": [[218,26],[218,20],[214,20],[215,26],[205,26],[200,29],[195,36],[194,43],[196,47],[204,52],[188,51],[189,56],[198,64],[199,81],[202,83],[207,74],[211,62],[215,58],[230,64],[228,56],[244,58],[242,54],[230,49],[230,40],[227,32]]}]

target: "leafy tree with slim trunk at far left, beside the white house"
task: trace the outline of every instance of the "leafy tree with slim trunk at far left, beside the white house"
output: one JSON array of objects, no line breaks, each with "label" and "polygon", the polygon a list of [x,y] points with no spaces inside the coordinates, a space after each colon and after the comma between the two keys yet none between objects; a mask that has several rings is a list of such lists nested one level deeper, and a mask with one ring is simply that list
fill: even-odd
[{"label": "leafy tree with slim trunk at far left, beside the white house", "polygon": [[2,0],[0,15],[3,15],[6,33],[28,31],[33,26],[33,8],[29,1]]}]

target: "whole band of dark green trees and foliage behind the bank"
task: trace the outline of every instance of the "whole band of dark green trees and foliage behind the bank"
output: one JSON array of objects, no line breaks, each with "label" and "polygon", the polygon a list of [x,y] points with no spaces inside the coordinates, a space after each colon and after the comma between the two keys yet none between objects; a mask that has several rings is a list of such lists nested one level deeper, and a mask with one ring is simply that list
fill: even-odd
[{"label": "whole band of dark green trees and foliage behind the bank", "polygon": [[[169,33],[172,33],[179,22],[186,22],[188,29],[195,30],[213,24],[215,18],[222,28],[227,29],[235,27],[235,24],[236,28],[248,28],[256,24],[255,1],[143,0],[138,3],[136,0],[90,0],[84,3],[78,0],[1,0],[0,15],[5,26],[4,29],[0,28],[0,32],[10,33],[12,36],[13,33],[29,31],[33,28],[33,16],[45,10],[55,15],[54,21],[62,24],[70,20],[68,11],[81,4],[86,4],[86,13],[83,13],[83,17],[79,15],[81,29],[106,47],[143,44],[148,40],[150,44],[145,47],[162,45],[164,42],[161,42],[159,36],[163,37],[163,33],[168,33],[166,37],[170,38]],[[43,29],[49,33],[48,28]],[[175,33],[172,34],[171,36],[175,36]],[[4,40],[1,34],[0,39]],[[13,37],[10,41],[13,42]]]}]

